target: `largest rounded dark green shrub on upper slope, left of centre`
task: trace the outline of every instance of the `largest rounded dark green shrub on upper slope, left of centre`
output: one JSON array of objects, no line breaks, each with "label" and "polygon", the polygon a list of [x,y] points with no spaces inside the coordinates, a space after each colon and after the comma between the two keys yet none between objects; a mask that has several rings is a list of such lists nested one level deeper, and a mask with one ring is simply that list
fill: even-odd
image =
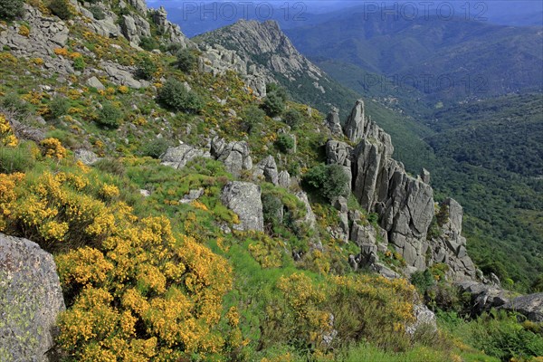
[{"label": "largest rounded dark green shrub on upper slope, left of centre", "polygon": [[188,113],[196,113],[204,106],[197,94],[187,90],[185,84],[175,79],[168,79],[158,90],[157,100],[167,109]]}]

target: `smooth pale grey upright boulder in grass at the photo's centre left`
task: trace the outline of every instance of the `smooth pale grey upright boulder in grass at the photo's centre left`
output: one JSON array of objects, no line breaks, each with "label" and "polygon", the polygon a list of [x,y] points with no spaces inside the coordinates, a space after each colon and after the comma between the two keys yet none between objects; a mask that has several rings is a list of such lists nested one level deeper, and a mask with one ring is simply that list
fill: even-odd
[{"label": "smooth pale grey upright boulder in grass at the photo's centre left", "polygon": [[240,224],[234,225],[234,229],[259,232],[264,230],[260,186],[248,182],[230,182],[224,186],[221,200],[239,216]]}]

